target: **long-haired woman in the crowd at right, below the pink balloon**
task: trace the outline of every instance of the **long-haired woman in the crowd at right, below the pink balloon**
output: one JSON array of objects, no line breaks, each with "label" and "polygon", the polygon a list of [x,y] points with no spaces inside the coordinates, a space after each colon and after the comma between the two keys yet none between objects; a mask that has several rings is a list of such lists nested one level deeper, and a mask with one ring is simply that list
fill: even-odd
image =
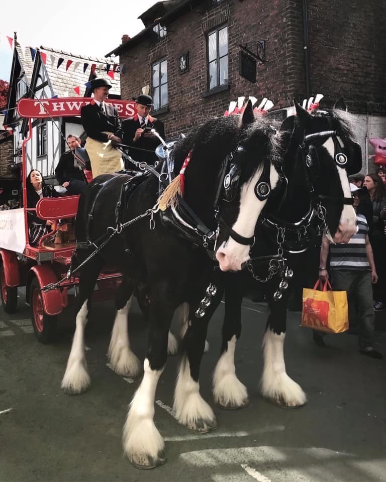
[{"label": "long-haired woman in the crowd at right, below the pink balloon", "polygon": [[369,234],[378,282],[372,285],[374,299],[374,310],[383,311],[386,309],[386,236],[383,232],[383,221],[380,212],[386,206],[386,189],[378,174],[366,174],[363,182],[364,187],[370,195],[373,207],[373,223]]}]

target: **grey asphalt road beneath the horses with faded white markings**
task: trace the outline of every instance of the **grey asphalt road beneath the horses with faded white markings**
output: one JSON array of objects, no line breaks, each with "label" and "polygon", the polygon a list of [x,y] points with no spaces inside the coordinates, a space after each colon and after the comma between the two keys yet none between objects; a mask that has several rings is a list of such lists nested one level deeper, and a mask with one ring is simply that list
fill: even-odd
[{"label": "grey asphalt road beneath the horses with faded white markings", "polygon": [[[21,291],[21,290],[20,290]],[[219,347],[221,305],[210,326],[201,393],[213,404],[211,374]],[[177,358],[170,357],[156,393],[155,422],[166,441],[166,463],[134,469],[122,455],[121,431],[138,381],[108,368],[107,348],[114,318],[112,303],[95,304],[86,332],[88,392],[65,396],[60,389],[73,333],[74,315],[61,317],[57,342],[35,339],[29,308],[0,306],[0,480],[292,482],[386,480],[386,359],[364,357],[357,337],[329,335],[326,348],[299,328],[300,313],[288,313],[287,373],[301,384],[308,404],[284,410],[262,399],[261,340],[265,304],[245,302],[236,369],[248,387],[250,405],[225,411],[214,407],[219,428],[196,435],[170,414]],[[386,318],[386,315],[385,315]],[[385,319],[386,323],[386,319]],[[146,324],[138,307],[130,314],[132,346],[145,353]],[[386,333],[375,348],[386,355]]]}]

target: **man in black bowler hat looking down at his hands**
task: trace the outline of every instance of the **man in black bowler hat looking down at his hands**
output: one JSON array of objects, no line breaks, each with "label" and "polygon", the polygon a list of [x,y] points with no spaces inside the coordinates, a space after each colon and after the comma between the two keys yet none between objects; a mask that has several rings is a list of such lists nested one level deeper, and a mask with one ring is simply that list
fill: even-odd
[{"label": "man in black bowler hat looking down at his hands", "polygon": [[[153,99],[150,95],[141,94],[135,102],[137,113],[134,117],[129,117],[122,123],[123,143],[134,148],[129,150],[133,159],[138,162],[154,164],[157,160],[154,151],[161,143],[151,130],[154,129],[162,139],[165,139],[165,128],[159,119],[150,115],[153,106]],[[129,167],[132,168],[133,166]]]}]

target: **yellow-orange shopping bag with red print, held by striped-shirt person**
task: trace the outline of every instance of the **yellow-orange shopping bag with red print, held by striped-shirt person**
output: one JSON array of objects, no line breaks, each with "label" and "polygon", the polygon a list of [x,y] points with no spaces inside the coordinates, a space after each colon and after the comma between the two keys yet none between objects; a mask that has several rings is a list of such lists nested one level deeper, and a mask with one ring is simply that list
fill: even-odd
[{"label": "yellow-orange shopping bag with red print, held by striped-shirt person", "polygon": [[[320,285],[320,290],[318,290]],[[329,290],[327,290],[327,287]],[[303,288],[303,310],[301,326],[327,333],[348,330],[347,293],[332,291],[330,282],[318,280],[314,289]]]}]

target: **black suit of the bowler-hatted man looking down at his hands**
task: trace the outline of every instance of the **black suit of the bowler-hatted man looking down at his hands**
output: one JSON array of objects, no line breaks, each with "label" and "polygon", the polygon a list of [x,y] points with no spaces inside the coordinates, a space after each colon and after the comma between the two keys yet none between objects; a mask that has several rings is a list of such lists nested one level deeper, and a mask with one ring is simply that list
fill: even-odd
[{"label": "black suit of the bowler-hatted man looking down at his hands", "polygon": [[[129,117],[122,123],[123,129],[123,143],[127,146],[132,146],[140,149],[147,149],[153,152],[138,151],[137,149],[129,149],[130,156],[138,162],[147,162],[148,164],[154,164],[157,160],[157,156],[154,154],[154,150],[161,143],[157,137],[145,137],[141,136],[138,141],[134,142],[134,136],[137,129],[141,127],[138,115],[134,117]],[[165,128],[163,122],[155,117],[149,115],[147,126],[154,128],[157,133],[165,139]]]}]

